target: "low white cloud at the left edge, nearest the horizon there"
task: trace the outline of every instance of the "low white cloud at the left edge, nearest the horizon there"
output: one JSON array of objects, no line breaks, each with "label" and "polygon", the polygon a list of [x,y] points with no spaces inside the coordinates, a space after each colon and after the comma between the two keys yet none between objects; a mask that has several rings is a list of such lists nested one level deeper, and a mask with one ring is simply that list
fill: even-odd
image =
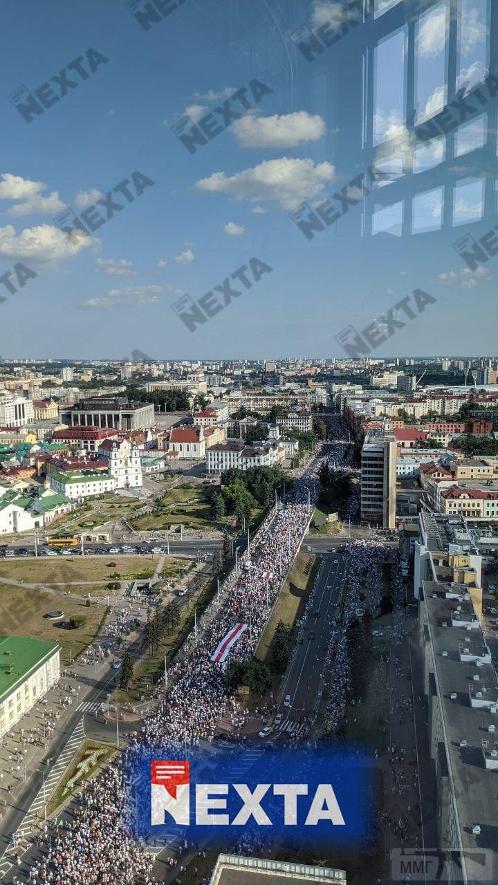
[{"label": "low white cloud at the left edge, nearest the horizon there", "polygon": [[71,234],[53,225],[25,227],[16,235],[14,227],[0,227],[0,256],[3,258],[25,258],[31,261],[63,261],[72,258],[82,249],[95,242],[81,230]]}]

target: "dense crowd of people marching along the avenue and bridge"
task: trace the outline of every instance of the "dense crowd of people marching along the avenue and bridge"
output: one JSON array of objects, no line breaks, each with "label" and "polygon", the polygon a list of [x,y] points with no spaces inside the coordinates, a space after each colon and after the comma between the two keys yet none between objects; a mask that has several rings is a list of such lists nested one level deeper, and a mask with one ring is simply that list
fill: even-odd
[{"label": "dense crowd of people marching along the avenue and bridge", "polygon": [[[211,657],[222,637],[237,623],[245,623],[248,627],[230,655],[238,659],[253,656],[268,613],[313,512],[319,492],[321,459],[330,460],[335,469],[338,466],[348,469],[351,463],[353,446],[346,435],[343,436],[344,439],[324,452],[318,450],[311,469],[305,466],[297,472],[291,495],[280,510],[268,516],[253,539],[251,549],[245,553],[245,558],[253,560],[253,568],[247,572],[242,568],[235,578],[232,576],[226,581],[219,596],[214,598],[206,617],[183,647],[180,659],[168,672],[168,690],[146,720],[144,733],[137,735],[128,750],[83,789],[72,818],[59,825],[50,836],[46,855],[30,870],[30,881],[34,885],[114,885],[118,882],[131,885],[136,881],[152,885],[155,881],[152,856],[144,850],[139,839],[130,835],[138,809],[130,801],[133,790],[129,789],[127,754],[133,754],[137,748],[152,753],[152,747],[157,743],[187,753],[198,747],[201,739],[213,740],[216,723],[229,708],[237,726],[244,724],[244,709],[224,687],[223,675],[229,661],[217,664],[211,661]],[[350,550],[354,550],[348,554],[350,564],[354,566],[356,561],[361,561],[361,557],[358,558],[361,547],[354,544]],[[268,572],[271,578],[265,575]],[[357,604],[354,584],[353,589],[346,603],[346,624]],[[342,628],[336,631],[329,650],[331,656],[335,643],[333,695],[337,696],[335,704],[338,706],[336,709],[331,701],[331,719],[338,717],[342,709],[338,697],[346,696],[348,689],[347,667],[344,666],[344,672],[341,669],[345,636]]]}]

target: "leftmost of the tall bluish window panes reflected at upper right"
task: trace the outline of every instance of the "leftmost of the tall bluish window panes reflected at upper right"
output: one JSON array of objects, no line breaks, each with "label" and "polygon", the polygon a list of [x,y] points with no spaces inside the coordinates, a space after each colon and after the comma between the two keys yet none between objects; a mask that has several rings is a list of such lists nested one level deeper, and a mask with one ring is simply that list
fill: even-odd
[{"label": "leftmost of the tall bluish window panes reflected at upper right", "polygon": [[401,135],[404,112],[405,31],[397,31],[375,49],[374,144]]}]

